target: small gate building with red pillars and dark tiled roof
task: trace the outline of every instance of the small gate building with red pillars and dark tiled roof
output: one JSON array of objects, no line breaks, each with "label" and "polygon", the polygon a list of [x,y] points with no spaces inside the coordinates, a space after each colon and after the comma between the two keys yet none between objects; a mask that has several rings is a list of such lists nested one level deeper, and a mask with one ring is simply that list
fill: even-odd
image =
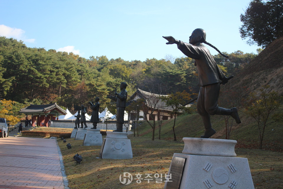
[{"label": "small gate building with red pillars and dark tiled roof", "polygon": [[[48,126],[48,120],[55,120],[59,115],[65,115],[66,111],[56,103],[34,105],[20,109],[19,113],[32,115],[32,126]],[[37,120],[37,121],[36,121]]]}]

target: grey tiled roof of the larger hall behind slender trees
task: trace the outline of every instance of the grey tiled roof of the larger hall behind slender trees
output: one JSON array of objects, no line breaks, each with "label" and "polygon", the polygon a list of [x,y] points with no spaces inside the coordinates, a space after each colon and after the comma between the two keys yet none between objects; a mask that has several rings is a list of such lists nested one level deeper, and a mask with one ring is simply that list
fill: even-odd
[{"label": "grey tiled roof of the larger hall behind slender trees", "polygon": [[172,111],[173,108],[170,106],[166,106],[166,103],[159,99],[161,96],[168,96],[168,95],[161,95],[161,94],[153,94],[150,92],[143,91],[141,89],[137,89],[136,92],[130,97],[130,99],[133,99],[136,95],[139,95],[141,98],[143,98],[148,107],[159,109],[159,110],[168,110]]}]

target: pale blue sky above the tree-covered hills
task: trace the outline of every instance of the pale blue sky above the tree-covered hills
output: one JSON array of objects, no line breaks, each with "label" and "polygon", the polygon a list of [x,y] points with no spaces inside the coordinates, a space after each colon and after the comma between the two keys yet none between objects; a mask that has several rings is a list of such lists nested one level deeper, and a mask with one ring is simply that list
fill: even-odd
[{"label": "pale blue sky above the tree-covered hills", "polygon": [[[239,33],[250,0],[0,0],[0,36],[28,47],[124,60],[184,56],[163,36],[188,42],[195,28],[219,50],[256,53]],[[206,45],[208,46],[208,45]],[[211,54],[217,51],[208,47]]]}]

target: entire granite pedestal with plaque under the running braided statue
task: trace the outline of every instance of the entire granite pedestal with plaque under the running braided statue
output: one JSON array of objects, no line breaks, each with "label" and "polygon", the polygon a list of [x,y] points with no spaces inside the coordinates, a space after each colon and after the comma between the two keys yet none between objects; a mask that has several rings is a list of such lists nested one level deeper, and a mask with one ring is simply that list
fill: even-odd
[{"label": "entire granite pedestal with plaque under the running braided statue", "polygon": [[183,138],[175,153],[164,189],[254,189],[247,158],[236,157],[237,141]]}]

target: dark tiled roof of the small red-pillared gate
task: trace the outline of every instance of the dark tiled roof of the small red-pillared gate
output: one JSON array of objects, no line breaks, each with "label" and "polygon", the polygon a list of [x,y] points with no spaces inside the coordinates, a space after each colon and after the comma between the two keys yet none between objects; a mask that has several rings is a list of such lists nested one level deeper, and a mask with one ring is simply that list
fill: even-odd
[{"label": "dark tiled roof of the small red-pillared gate", "polygon": [[54,104],[43,104],[43,105],[34,105],[31,104],[28,107],[22,108],[19,113],[48,113],[51,110],[57,109],[63,115],[66,115],[66,111],[63,110],[56,103]]}]

